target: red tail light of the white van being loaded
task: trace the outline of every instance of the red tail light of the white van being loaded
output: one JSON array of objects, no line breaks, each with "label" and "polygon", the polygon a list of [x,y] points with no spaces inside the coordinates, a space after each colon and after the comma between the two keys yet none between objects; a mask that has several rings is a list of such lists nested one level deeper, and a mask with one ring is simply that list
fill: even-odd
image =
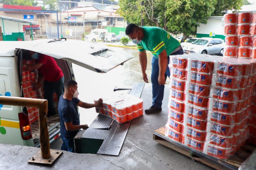
[{"label": "red tail light of the white van being loaded", "polygon": [[25,113],[19,113],[20,120],[20,133],[23,140],[32,138],[28,115]]}]

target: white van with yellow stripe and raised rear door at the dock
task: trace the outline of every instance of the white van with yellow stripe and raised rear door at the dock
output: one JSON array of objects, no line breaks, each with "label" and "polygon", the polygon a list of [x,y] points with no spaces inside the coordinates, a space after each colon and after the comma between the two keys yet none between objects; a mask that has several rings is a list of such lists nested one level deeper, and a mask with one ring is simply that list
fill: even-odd
[{"label": "white van with yellow stripe and raised rear door at the dock", "polygon": [[[36,41],[0,41],[0,95],[23,97],[22,62],[25,50],[52,56],[60,66],[64,81],[75,80],[72,63],[105,73],[133,56],[91,42],[55,39]],[[20,51],[20,55],[17,55]],[[48,118],[50,142],[60,136],[58,114]],[[24,128],[26,127],[26,128]],[[38,121],[30,124],[26,107],[0,104],[0,143],[39,146]]]}]

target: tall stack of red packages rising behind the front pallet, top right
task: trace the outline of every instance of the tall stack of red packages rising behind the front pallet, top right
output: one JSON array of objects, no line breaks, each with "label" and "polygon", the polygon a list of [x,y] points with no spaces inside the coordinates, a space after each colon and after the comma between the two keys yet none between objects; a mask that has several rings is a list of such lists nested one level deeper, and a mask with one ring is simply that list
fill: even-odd
[{"label": "tall stack of red packages rising behind the front pallet, top right", "polygon": [[256,12],[224,15],[225,57],[256,58]]}]

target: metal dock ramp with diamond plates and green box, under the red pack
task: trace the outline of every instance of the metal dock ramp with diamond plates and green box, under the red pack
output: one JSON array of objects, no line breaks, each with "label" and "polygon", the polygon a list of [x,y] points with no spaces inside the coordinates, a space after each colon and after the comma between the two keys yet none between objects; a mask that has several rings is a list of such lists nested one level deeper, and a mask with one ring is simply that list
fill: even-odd
[{"label": "metal dock ramp with diamond plates and green box, under the red pack", "polygon": [[[129,91],[140,97],[144,83],[135,84]],[[124,89],[122,90],[129,90]],[[75,140],[76,153],[94,153],[118,156],[124,143],[131,121],[118,123],[112,118],[99,114],[87,130],[77,133]]]}]

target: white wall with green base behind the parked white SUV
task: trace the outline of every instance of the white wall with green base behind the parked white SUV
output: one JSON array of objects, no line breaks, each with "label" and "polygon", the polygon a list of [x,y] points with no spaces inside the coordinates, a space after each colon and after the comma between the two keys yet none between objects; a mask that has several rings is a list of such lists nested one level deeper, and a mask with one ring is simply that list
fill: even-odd
[{"label": "white wall with green base behind the parked white SUV", "polygon": [[207,24],[200,24],[200,26],[197,27],[196,37],[210,37],[210,33],[215,33],[215,36],[212,36],[212,38],[225,39],[223,35],[224,24],[222,23],[221,17],[210,17],[208,18]]}]

